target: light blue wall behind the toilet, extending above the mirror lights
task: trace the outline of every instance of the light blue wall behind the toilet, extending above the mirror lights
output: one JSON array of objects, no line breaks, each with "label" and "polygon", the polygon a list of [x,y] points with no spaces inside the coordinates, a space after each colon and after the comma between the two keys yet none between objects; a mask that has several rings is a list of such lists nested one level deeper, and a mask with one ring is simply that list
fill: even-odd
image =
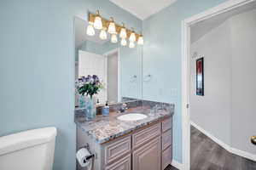
[{"label": "light blue wall behind the toilet, extending above the mirror lights", "polygon": [[106,0],[0,2],[0,136],[55,126],[55,170],[75,169],[73,19],[102,15],[142,29],[142,21]]}]

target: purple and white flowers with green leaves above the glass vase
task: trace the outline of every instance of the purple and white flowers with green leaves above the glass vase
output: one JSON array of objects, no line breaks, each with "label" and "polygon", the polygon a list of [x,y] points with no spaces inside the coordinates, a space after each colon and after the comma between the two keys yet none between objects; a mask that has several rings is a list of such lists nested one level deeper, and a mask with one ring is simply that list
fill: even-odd
[{"label": "purple and white flowers with green leaves above the glass vase", "polygon": [[90,99],[94,94],[98,94],[100,89],[104,88],[102,82],[100,81],[99,77],[96,75],[88,75],[87,77],[80,77],[76,81],[76,88],[79,94],[86,96],[90,95]]}]

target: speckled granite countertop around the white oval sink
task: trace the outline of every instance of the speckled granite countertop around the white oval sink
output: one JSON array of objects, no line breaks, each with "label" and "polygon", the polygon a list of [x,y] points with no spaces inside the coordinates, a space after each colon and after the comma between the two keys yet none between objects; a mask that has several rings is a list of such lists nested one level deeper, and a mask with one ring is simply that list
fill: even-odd
[{"label": "speckled granite countertop around the white oval sink", "polygon": [[[148,117],[140,121],[119,121],[117,116],[127,114],[129,112],[143,113]],[[109,116],[96,116],[96,119],[86,122],[83,113],[75,114],[75,122],[84,133],[88,133],[97,143],[105,143],[108,140],[115,139],[126,133],[130,133],[140,127],[144,127],[153,122],[172,116],[174,105],[170,105],[166,110],[152,111],[149,106],[138,106],[131,108],[125,113],[113,111]]]}]

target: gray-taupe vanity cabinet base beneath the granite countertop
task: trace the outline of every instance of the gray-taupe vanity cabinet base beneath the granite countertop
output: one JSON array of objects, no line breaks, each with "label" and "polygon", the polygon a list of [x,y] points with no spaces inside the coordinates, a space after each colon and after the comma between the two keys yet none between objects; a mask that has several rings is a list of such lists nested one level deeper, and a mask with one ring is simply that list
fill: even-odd
[{"label": "gray-taupe vanity cabinet base beneath the granite countertop", "polygon": [[77,128],[77,142],[95,153],[93,170],[164,170],[172,162],[172,117],[103,144]]}]

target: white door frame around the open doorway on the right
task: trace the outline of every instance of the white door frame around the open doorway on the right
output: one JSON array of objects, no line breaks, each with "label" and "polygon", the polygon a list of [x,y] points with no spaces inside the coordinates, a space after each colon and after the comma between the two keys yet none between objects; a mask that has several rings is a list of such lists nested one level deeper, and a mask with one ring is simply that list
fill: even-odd
[{"label": "white door frame around the open doorway on the right", "polygon": [[222,14],[231,9],[241,7],[255,0],[229,0],[217,7],[210,8],[201,14],[195,14],[182,22],[182,129],[183,129],[183,165],[184,170],[190,169],[190,115],[189,115],[189,49],[190,26],[207,20],[217,14]]}]

